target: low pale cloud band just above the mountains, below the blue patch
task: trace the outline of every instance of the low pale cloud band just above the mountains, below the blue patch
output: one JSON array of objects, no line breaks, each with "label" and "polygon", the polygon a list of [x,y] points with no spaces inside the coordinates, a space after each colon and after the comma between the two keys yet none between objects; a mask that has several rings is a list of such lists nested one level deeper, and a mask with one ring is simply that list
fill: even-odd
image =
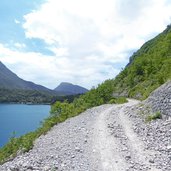
[{"label": "low pale cloud band just above the mountains, below the blue patch", "polygon": [[[45,56],[40,53],[10,50],[0,44],[0,60],[25,80],[55,88],[62,81],[69,81],[91,88],[100,81],[112,78],[118,70],[97,56],[84,60],[67,57]],[[101,69],[107,74],[101,73]]]}]

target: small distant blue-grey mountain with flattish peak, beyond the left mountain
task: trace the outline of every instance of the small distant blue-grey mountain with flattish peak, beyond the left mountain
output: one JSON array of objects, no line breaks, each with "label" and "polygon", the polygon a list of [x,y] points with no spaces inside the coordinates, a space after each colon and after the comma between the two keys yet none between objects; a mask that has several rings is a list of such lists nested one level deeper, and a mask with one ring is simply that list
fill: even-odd
[{"label": "small distant blue-grey mountain with flattish peak, beyond the left mountain", "polygon": [[88,90],[84,87],[73,85],[71,83],[62,82],[58,87],[54,89],[56,92],[62,92],[65,95],[76,95],[76,94],[84,94],[88,92]]}]

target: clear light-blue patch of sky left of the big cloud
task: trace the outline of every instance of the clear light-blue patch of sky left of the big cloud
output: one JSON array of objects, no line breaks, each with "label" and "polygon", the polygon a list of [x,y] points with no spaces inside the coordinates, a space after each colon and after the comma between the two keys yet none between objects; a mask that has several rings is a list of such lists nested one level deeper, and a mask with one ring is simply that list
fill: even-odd
[{"label": "clear light-blue patch of sky left of the big cloud", "polygon": [[25,22],[23,16],[39,8],[45,1],[25,0],[2,0],[0,2],[0,40],[10,48],[18,48],[17,45],[26,45],[23,51],[35,51],[52,54],[44,49],[45,43],[41,39],[27,39],[22,24]]}]

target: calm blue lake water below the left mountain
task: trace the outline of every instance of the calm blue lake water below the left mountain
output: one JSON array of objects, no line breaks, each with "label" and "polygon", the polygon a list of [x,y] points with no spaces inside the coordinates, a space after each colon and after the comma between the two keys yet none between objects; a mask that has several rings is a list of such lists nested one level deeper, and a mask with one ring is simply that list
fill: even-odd
[{"label": "calm blue lake water below the left mountain", "polygon": [[49,105],[0,104],[0,147],[15,131],[21,136],[34,131],[49,116]]}]

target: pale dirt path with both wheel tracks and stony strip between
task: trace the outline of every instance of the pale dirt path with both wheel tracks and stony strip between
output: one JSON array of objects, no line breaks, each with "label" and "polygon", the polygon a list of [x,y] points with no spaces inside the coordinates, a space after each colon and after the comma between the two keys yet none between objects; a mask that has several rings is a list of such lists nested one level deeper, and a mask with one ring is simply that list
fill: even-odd
[{"label": "pale dirt path with both wheel tracks and stony strip between", "polygon": [[154,153],[146,150],[125,112],[137,103],[129,100],[129,103],[114,105],[98,117],[93,144],[100,153],[103,171],[159,171],[150,160]]}]

